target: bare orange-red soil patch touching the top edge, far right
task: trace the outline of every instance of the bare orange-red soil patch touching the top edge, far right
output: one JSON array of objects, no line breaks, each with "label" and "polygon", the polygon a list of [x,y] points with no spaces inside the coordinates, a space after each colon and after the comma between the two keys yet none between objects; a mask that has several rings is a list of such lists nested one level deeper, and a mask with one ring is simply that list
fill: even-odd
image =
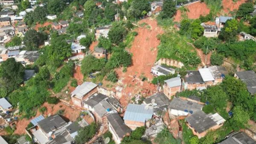
[{"label": "bare orange-red soil patch touching the top edge, far right", "polygon": [[237,0],[237,2],[233,0],[222,0],[223,10],[225,13],[229,13],[230,11],[238,9],[239,6],[245,2],[246,0]]}]

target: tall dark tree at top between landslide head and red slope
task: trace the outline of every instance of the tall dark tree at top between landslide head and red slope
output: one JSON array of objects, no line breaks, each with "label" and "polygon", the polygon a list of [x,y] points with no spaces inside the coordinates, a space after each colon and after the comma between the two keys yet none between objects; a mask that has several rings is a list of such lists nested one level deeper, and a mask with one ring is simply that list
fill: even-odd
[{"label": "tall dark tree at top between landslide head and red slope", "polygon": [[172,0],[164,0],[163,3],[163,18],[171,18],[176,13],[176,3]]}]

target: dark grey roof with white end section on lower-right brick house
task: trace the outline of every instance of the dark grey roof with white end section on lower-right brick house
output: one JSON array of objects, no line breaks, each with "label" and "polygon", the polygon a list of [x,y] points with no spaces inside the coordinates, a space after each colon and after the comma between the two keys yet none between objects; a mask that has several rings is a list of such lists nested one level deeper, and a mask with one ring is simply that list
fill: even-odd
[{"label": "dark grey roof with white end section on lower-right brick house", "polygon": [[226,121],[218,113],[207,115],[203,111],[197,111],[185,119],[199,134]]}]

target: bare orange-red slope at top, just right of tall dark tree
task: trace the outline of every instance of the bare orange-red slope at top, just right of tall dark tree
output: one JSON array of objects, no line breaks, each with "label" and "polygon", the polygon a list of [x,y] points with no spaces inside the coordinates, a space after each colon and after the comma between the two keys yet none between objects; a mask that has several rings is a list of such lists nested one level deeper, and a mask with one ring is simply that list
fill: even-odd
[{"label": "bare orange-red slope at top, just right of tall dark tree", "polygon": [[[232,0],[231,0],[232,1]],[[203,2],[195,2],[185,6],[188,9],[186,15],[189,19],[197,19],[200,15],[207,15],[210,13],[210,9],[207,5]],[[177,11],[176,15],[174,16],[174,21],[180,22],[182,20],[182,12],[180,10]]]}]

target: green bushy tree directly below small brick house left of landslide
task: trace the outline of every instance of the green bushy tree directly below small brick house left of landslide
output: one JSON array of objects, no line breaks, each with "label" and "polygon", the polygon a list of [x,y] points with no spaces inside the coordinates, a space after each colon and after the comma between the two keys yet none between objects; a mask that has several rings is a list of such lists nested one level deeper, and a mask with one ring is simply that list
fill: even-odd
[{"label": "green bushy tree directly below small brick house left of landslide", "polygon": [[92,55],[88,55],[82,60],[81,72],[84,75],[88,75],[89,73],[102,70],[104,65],[104,59],[97,59]]}]

